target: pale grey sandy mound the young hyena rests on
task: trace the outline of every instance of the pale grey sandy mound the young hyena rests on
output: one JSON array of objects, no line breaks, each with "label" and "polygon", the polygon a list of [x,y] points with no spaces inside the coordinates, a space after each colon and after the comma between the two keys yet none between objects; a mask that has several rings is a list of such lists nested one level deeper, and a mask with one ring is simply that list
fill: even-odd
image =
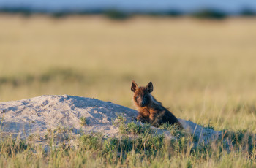
[{"label": "pale grey sandy mound the young hyena rests on", "polygon": [[[79,96],[38,96],[31,99],[0,103],[0,134],[26,137],[29,134],[44,135],[48,129],[67,128],[73,134],[101,132],[108,137],[118,135],[113,121],[118,115],[127,121],[135,121],[137,111],[111,102],[103,102]],[[81,118],[86,118],[82,124]],[[181,124],[200,141],[207,142],[221,135],[220,131],[206,129],[191,121],[179,119]],[[159,130],[171,136],[167,131]]]}]

